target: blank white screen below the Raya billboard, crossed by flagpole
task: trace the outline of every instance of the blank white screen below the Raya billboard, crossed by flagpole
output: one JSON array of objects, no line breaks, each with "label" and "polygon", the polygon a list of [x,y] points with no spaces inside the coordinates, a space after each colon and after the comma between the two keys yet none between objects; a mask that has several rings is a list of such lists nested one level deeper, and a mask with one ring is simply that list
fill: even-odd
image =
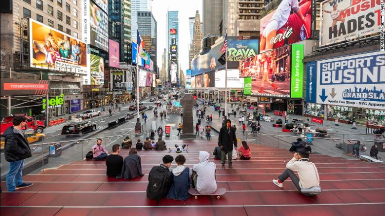
[{"label": "blank white screen below the Raya billboard, crossed by flagpole", "polygon": [[[215,87],[225,88],[225,70],[215,72]],[[227,70],[227,87],[228,88],[243,88],[243,78],[239,78],[238,69]]]}]

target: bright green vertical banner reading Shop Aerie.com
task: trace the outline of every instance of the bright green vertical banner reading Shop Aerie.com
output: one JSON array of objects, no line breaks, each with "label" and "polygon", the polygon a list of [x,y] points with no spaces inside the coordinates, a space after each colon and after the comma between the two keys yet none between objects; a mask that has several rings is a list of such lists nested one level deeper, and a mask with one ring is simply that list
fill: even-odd
[{"label": "bright green vertical banner reading Shop Aerie.com", "polygon": [[292,45],[290,98],[302,98],[304,88],[304,44]]}]

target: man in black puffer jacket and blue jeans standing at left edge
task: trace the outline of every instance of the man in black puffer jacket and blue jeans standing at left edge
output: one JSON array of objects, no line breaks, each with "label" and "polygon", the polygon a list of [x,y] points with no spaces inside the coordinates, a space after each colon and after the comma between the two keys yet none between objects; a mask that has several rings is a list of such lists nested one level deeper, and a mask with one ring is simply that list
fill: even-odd
[{"label": "man in black puffer jacket and blue jeans standing at left edge", "polygon": [[8,191],[32,186],[32,183],[24,183],[22,171],[24,168],[24,159],[32,156],[27,137],[23,128],[27,124],[27,118],[16,116],[12,119],[13,126],[4,131],[5,137],[4,156],[9,162],[9,172],[7,175]]}]

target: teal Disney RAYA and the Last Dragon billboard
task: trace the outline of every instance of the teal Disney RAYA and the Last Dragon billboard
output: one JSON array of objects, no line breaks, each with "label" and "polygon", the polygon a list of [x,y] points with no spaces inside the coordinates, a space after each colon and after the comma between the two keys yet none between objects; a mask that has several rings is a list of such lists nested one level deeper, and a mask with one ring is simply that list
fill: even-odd
[{"label": "teal Disney RAYA and the Last Dragon billboard", "polygon": [[227,47],[227,68],[238,69],[240,61],[258,55],[259,40],[257,36],[229,36]]}]

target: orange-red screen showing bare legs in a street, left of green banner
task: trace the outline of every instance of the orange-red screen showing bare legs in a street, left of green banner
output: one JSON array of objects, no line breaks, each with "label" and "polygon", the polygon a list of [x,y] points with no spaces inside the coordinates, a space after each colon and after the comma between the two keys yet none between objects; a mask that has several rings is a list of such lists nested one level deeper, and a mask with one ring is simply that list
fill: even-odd
[{"label": "orange-red screen showing bare legs in a street, left of green banner", "polygon": [[274,49],[240,64],[239,77],[252,78],[252,95],[290,97],[291,46]]}]

